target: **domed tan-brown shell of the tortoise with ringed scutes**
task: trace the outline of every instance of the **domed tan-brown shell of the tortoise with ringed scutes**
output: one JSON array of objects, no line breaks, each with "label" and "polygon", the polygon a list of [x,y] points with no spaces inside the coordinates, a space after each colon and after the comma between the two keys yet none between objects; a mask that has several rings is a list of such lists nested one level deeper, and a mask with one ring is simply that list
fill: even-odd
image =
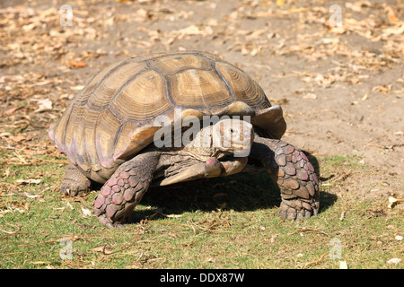
[{"label": "domed tan-brown shell of the tortoise with ringed scutes", "polygon": [[[238,102],[247,104],[253,117],[271,108],[258,83],[219,57],[198,51],[132,57],[96,74],[49,135],[84,175],[102,183],[153,142],[161,128],[154,125],[156,117],[173,120],[174,109],[198,117],[223,115]],[[280,138],[282,110],[260,125]]]}]

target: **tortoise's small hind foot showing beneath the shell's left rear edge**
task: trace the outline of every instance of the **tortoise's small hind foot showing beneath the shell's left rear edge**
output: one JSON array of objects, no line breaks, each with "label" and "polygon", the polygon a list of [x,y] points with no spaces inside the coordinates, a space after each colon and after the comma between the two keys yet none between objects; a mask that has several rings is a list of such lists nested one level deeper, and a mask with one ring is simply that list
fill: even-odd
[{"label": "tortoise's small hind foot showing beneath the shell's left rear edge", "polygon": [[69,196],[81,196],[90,191],[92,181],[86,178],[77,167],[70,162],[65,171],[61,190],[62,193]]}]

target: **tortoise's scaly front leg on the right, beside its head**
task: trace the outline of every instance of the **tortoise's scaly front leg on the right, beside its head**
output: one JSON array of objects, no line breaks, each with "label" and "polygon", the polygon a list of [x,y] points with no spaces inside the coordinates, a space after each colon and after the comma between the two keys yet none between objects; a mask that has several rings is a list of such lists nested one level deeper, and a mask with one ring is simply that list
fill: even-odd
[{"label": "tortoise's scaly front leg on the right, beside its head", "polygon": [[317,215],[320,207],[319,181],[312,164],[290,143],[256,136],[250,157],[259,160],[280,188],[282,219],[301,220]]}]

